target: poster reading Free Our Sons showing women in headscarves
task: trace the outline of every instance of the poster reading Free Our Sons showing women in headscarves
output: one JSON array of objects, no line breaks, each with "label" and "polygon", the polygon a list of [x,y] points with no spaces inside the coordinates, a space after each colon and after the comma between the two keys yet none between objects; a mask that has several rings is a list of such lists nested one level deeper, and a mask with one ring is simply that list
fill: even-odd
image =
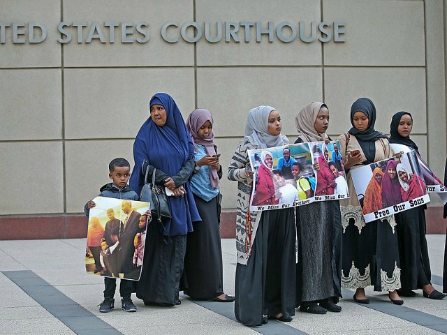
[{"label": "poster reading Free Our Sons showing women in headscarves", "polygon": [[414,151],[353,169],[351,176],[365,222],[430,202]]}]

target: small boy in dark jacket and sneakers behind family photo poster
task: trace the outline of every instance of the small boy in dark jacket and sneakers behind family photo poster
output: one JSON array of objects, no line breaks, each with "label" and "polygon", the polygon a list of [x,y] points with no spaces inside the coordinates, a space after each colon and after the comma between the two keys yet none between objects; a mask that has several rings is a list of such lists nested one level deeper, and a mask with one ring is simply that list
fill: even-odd
[{"label": "small boy in dark jacket and sneakers behind family photo poster", "polygon": [[[106,198],[116,198],[125,200],[136,200],[140,198],[138,194],[132,191],[131,187],[127,184],[129,177],[131,177],[131,165],[124,158],[115,158],[109,163],[109,178],[112,179],[112,183],[105,184],[101,187],[98,196]],[[95,207],[95,203],[91,200],[85,204],[85,215],[89,216],[91,208]],[[150,211],[146,212],[148,218],[151,217]],[[119,237],[118,237],[119,238]],[[115,251],[119,253],[119,250]],[[117,288],[116,278],[104,278],[104,300],[99,305],[99,311],[106,313],[112,311],[115,307],[115,290]],[[126,312],[135,312],[137,308],[131,299],[133,292],[133,283],[129,280],[121,280],[119,283],[119,294],[121,295],[122,309]]]}]

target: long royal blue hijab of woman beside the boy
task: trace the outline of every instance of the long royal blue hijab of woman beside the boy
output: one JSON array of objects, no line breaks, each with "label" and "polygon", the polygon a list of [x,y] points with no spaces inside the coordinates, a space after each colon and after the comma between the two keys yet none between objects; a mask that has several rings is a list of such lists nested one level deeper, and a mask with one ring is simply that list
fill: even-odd
[{"label": "long royal blue hijab of woman beside the boy", "polygon": [[[149,107],[152,105],[165,107],[166,124],[157,126],[149,117],[135,137],[133,143],[135,167],[129,184],[138,194],[144,184],[141,177],[144,161],[172,177],[182,169],[188,159],[194,158],[191,135],[174,99],[166,93],[157,93],[149,102]],[[163,221],[165,235],[187,234],[193,231],[192,222],[200,221],[189,181],[186,181],[184,188],[186,190],[184,197],[169,197],[172,218]]]}]

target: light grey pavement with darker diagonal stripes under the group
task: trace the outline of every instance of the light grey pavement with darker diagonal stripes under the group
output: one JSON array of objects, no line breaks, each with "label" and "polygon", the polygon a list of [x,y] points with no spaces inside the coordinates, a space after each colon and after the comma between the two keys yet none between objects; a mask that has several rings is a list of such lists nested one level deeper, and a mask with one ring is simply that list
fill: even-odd
[{"label": "light grey pavement with darker diagonal stripes under the group", "polygon": [[[432,281],[441,290],[445,235],[427,235]],[[234,295],[235,240],[222,239],[224,289]],[[0,334],[441,334],[447,333],[447,298],[404,298],[367,290],[372,303],[356,304],[344,290],[341,313],[296,311],[292,322],[262,327],[240,325],[233,303],[191,301],[175,307],[144,306],[133,295],[136,313],[99,313],[103,278],[85,272],[86,239],[0,241]]]}]

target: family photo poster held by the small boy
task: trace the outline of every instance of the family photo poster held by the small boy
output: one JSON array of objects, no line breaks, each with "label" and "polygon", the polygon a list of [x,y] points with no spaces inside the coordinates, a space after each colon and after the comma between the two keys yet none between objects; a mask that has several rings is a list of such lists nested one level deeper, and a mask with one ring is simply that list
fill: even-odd
[{"label": "family photo poster held by the small boy", "polygon": [[89,211],[85,269],[89,274],[138,281],[149,202],[96,197]]}]

